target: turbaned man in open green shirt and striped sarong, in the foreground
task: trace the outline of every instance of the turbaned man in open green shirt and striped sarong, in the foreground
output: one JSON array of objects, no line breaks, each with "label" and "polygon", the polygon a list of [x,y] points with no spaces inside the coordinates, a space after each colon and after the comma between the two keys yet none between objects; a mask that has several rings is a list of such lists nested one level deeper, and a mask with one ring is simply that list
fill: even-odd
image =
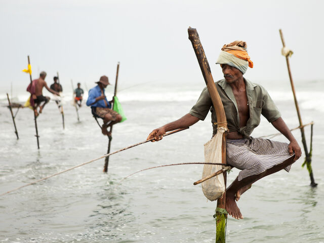
[{"label": "turbaned man in open green shirt and striped sarong, in the foreground", "polygon": [[[247,53],[247,44],[236,41],[224,45],[216,64],[221,65],[224,74],[224,79],[215,85],[225,109],[229,129],[227,164],[241,170],[226,190],[226,210],[232,217],[242,219],[236,205],[240,195],[252,183],[267,175],[282,169],[289,172],[291,165],[301,156],[301,149],[267,91],[243,77],[248,66],[253,67]],[[204,120],[209,110],[212,112],[214,136],[217,132],[217,119],[206,87],[188,114],[154,129],[147,139],[155,138],[158,141],[162,139],[158,137],[166,132],[189,127],[199,119]],[[260,124],[261,114],[290,141],[289,144],[250,136]]]}]

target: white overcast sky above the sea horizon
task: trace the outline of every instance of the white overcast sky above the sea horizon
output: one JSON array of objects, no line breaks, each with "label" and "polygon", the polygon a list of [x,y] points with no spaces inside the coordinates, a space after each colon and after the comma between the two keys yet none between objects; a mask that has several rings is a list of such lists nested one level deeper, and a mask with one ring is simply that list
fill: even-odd
[{"label": "white overcast sky above the sea horizon", "polygon": [[[0,0],[1,93],[23,89],[33,78],[59,71],[63,85],[92,84],[103,74],[132,86],[151,80],[159,86],[190,85],[202,75],[188,39],[197,29],[215,80],[221,47],[235,40],[248,44],[252,82],[288,79],[278,29],[294,51],[295,80],[323,79],[324,1],[44,1]],[[154,85],[154,82],[149,85]],[[89,85],[89,86],[90,86]],[[90,88],[90,87],[89,87]],[[157,91],[158,92],[158,91]]]}]

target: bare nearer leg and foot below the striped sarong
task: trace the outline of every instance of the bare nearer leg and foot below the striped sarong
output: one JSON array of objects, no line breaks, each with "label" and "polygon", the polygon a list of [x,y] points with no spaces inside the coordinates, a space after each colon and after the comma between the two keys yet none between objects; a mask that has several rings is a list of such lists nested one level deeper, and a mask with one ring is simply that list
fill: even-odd
[{"label": "bare nearer leg and foot below the striped sarong", "polygon": [[273,166],[272,168],[270,168],[270,169],[266,170],[265,172],[260,173],[258,175],[250,176],[250,177],[244,178],[240,181],[238,181],[238,179],[236,178],[226,190],[226,207],[225,207],[225,209],[228,212],[228,214],[231,215],[235,219],[242,219],[243,216],[242,216],[239,208],[236,205],[235,193],[237,195],[237,192],[240,191],[240,194],[242,194],[243,192],[245,192],[247,190],[247,189],[244,190],[243,188],[247,188],[250,185],[252,185],[254,182],[260,180],[261,178],[271,175],[275,172],[278,172],[293,163],[294,163],[294,156],[286,159],[281,164]]}]

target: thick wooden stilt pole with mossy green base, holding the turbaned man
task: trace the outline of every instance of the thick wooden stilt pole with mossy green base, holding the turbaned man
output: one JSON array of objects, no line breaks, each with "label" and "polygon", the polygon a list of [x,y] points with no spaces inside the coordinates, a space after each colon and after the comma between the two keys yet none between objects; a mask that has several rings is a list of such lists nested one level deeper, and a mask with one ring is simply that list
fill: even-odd
[{"label": "thick wooden stilt pole with mossy green base, holding the turbaned man", "polygon": [[[188,28],[189,39],[192,43],[192,47],[196,54],[201,72],[203,73],[205,83],[207,85],[208,91],[211,95],[212,103],[216,112],[217,122],[227,129],[227,120],[225,115],[224,106],[222,100],[216,89],[214,79],[211,73],[211,69],[208,63],[208,60],[205,55],[203,46],[200,43],[199,35],[197,30],[194,28]],[[226,164],[226,135],[223,134],[222,138],[222,164]],[[223,173],[225,187],[226,187],[226,171]],[[217,200],[217,209],[216,209],[216,243],[224,243],[226,236],[226,221],[227,221],[227,212],[225,210],[225,201],[226,201],[226,192],[221,198]]]}]

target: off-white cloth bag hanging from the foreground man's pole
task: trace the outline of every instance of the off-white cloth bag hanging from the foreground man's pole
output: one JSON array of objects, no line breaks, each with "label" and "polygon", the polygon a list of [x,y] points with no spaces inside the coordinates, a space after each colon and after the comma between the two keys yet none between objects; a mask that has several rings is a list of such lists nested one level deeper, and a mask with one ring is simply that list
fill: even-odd
[{"label": "off-white cloth bag hanging from the foreground man's pole", "polygon": [[[224,132],[224,128],[218,128],[216,136],[204,144],[205,163],[222,163],[222,137]],[[222,170],[222,166],[204,165],[202,178],[214,174],[219,170]],[[226,190],[223,173],[201,183],[201,188],[203,189],[204,195],[211,201],[222,197]]]}]

